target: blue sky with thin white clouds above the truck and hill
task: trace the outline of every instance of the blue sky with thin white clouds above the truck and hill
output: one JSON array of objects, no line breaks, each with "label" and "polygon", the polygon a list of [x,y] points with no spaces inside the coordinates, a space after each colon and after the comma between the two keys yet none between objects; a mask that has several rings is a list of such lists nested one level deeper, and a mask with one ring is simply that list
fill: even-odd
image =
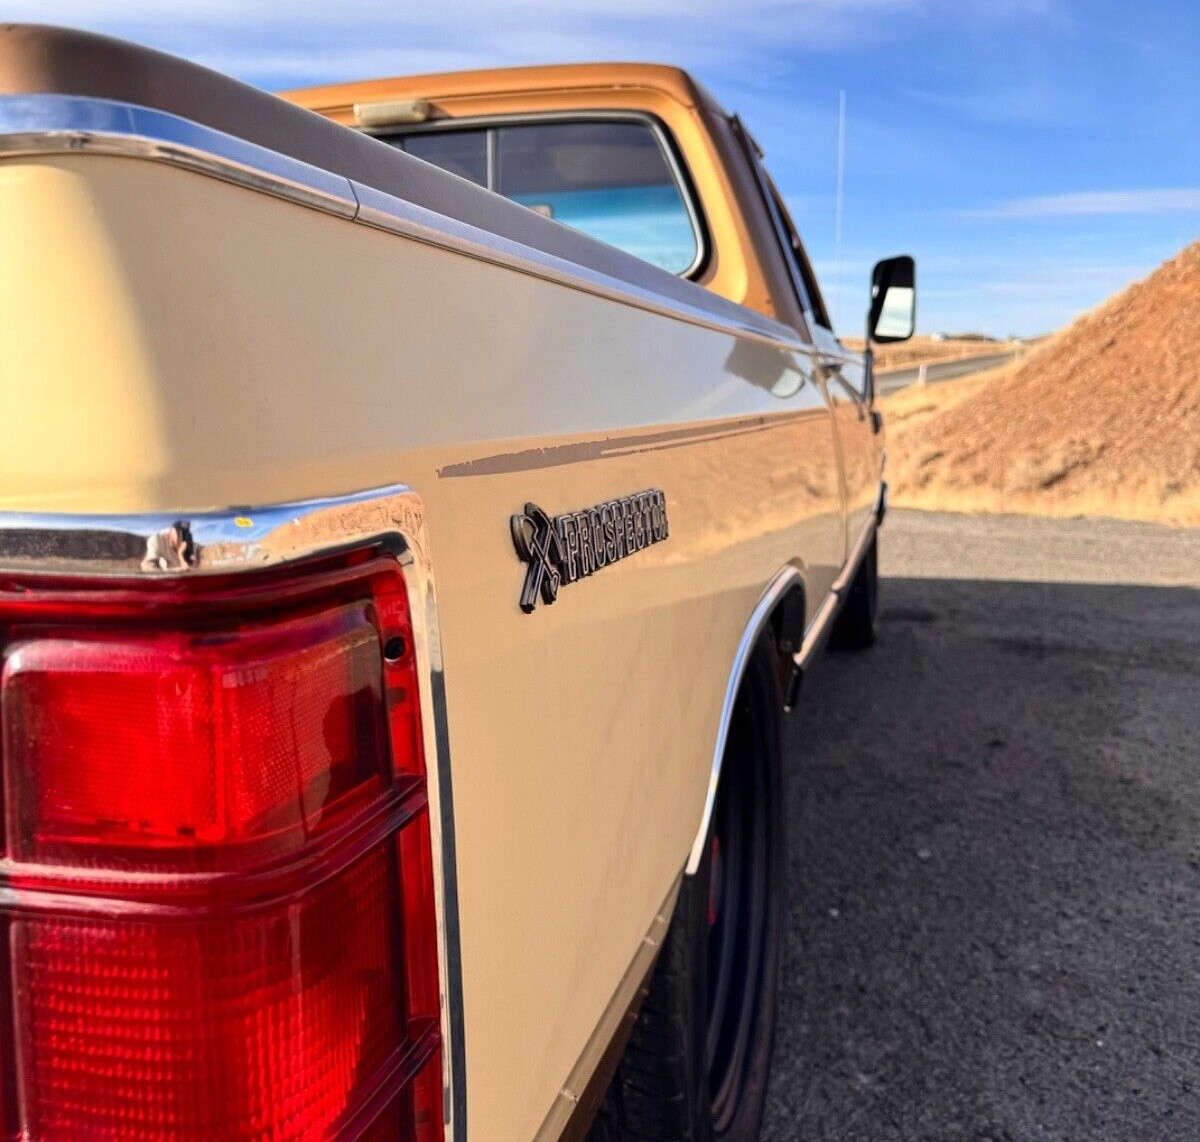
[{"label": "blue sky with thin white clouds above the truck and hill", "polygon": [[124,36],[275,90],[680,64],[762,143],[847,333],[883,254],[917,256],[922,330],[1031,335],[1200,236],[1195,0],[16,0],[0,18]]}]

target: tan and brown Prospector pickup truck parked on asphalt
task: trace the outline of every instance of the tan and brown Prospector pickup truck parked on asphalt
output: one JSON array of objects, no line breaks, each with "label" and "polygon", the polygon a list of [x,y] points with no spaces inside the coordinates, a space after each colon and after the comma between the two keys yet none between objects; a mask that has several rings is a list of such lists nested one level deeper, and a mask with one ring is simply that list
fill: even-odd
[{"label": "tan and brown Prospector pickup truck parked on asphalt", "polygon": [[869,354],[679,71],[286,100],[0,28],[0,1135],[745,1142]]}]

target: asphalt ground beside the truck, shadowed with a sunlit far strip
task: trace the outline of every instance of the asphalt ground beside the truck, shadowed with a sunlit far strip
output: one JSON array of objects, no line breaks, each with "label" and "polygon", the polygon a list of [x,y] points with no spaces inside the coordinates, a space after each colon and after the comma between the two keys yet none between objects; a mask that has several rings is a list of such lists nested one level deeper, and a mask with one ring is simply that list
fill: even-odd
[{"label": "asphalt ground beside the truck, shadowed with a sunlit far strip", "polygon": [[764,1142],[1200,1138],[1200,529],[881,552],[878,643],[785,731]]}]

